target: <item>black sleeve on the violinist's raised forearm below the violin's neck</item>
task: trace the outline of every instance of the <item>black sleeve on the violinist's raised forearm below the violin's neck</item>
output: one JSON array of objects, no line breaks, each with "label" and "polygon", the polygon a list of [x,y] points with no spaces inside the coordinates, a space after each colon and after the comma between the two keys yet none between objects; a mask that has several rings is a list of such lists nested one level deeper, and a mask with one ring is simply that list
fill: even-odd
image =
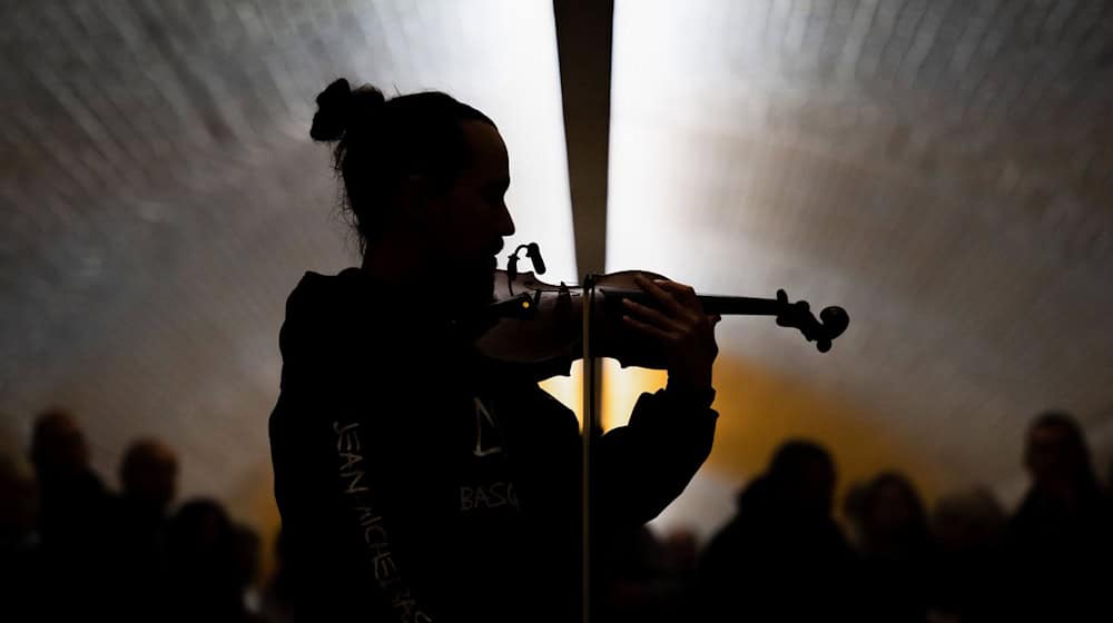
[{"label": "black sleeve on the violinist's raised forearm below the violin's neck", "polygon": [[593,452],[593,495],[602,526],[643,524],[679,496],[711,452],[715,390],[669,386],[642,394],[630,421]]}]

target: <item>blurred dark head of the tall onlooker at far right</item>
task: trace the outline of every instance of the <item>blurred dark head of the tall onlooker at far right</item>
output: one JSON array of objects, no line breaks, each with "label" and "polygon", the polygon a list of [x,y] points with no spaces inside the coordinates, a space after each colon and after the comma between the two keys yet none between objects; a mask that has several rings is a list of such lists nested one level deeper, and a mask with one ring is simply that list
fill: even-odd
[{"label": "blurred dark head of the tall onlooker at far right", "polygon": [[1045,412],[1028,428],[1024,465],[1036,488],[1097,492],[1097,476],[1082,428],[1064,412]]}]

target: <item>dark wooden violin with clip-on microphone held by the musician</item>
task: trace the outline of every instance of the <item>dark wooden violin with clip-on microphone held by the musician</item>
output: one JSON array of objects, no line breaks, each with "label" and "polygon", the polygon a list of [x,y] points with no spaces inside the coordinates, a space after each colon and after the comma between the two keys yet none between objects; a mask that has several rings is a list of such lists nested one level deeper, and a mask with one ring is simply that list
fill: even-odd
[{"label": "dark wooden violin with clip-on microphone held by the musician", "polygon": [[[533,271],[518,271],[522,249],[526,249],[536,273],[544,273],[536,243],[521,245],[510,256],[508,268],[495,271],[494,299],[483,312],[485,330],[475,340],[480,355],[529,369],[538,379],[569,376],[572,363],[584,355],[587,339],[592,357],[610,357],[622,367],[664,368],[659,354],[621,320],[626,313],[623,298],[653,305],[650,295],[634,281],[636,276],[666,277],[647,270],[623,270],[589,275],[578,286],[552,285],[538,279]],[[820,353],[830,350],[835,338],[849,325],[841,307],[826,307],[817,319],[806,300],[789,303],[784,289],[777,290],[776,298],[701,294],[697,298],[706,314],[774,316],[777,325],[798,329]],[[584,337],[585,328],[590,329],[590,338]]]}]

